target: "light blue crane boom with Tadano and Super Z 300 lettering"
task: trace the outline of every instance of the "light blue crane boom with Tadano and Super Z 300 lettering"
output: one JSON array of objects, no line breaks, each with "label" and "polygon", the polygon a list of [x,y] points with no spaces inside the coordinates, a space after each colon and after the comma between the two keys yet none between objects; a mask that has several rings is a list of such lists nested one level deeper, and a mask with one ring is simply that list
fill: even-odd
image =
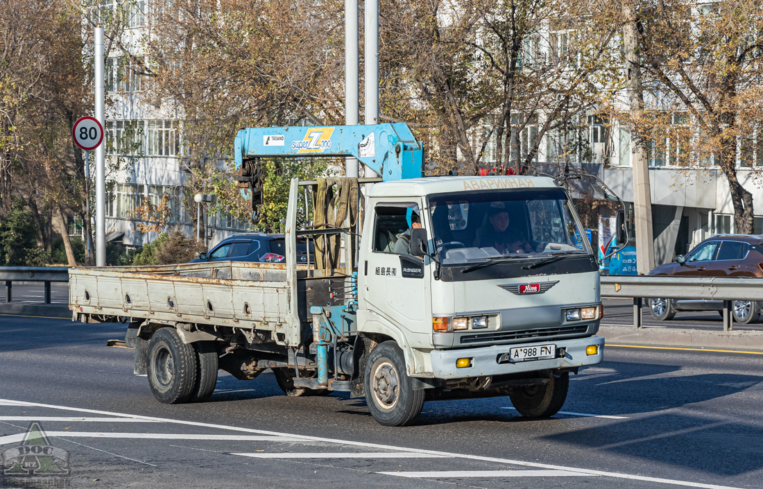
[{"label": "light blue crane boom with Tadano and Super Z 300 lettering", "polygon": [[354,156],[383,181],[423,175],[423,146],[407,124],[249,127],[236,135],[236,168],[261,157]]}]

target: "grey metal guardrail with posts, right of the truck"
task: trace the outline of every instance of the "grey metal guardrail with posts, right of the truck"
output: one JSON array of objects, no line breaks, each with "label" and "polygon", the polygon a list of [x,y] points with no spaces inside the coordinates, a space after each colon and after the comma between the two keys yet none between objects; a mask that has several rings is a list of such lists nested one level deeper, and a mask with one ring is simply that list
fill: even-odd
[{"label": "grey metal guardrail with posts, right of the truck", "polygon": [[723,301],[723,330],[732,329],[732,301],[763,301],[763,279],[714,277],[601,277],[602,298],[633,298],[633,326],[641,328],[644,298]]}]

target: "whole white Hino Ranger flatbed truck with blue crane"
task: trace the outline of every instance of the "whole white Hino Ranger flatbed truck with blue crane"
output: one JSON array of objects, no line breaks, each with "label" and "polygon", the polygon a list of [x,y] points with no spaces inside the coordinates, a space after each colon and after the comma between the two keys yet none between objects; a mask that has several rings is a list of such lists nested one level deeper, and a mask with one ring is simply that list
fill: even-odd
[{"label": "whole white Hino Ranger flatbed truck with blue crane", "polygon": [[354,157],[380,176],[292,179],[284,256],[70,269],[72,319],[125,323],[159,402],[270,368],[285,394],[346,391],[387,426],[467,397],[549,417],[570,373],[602,361],[598,266],[559,181],[425,178],[405,124],[249,128],[234,147],[255,202],[262,158]]}]

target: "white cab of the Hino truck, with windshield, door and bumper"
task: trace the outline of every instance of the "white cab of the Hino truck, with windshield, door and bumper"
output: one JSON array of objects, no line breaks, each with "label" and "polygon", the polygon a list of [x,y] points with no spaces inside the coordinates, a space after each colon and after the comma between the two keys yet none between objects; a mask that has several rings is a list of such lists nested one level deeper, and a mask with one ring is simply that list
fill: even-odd
[{"label": "white cab of the Hino truck, with windshield, door and bumper", "polygon": [[[421,229],[414,234],[425,237],[404,253],[394,245],[411,233],[412,215]],[[407,374],[440,388],[598,363],[599,272],[581,236],[568,195],[550,178],[375,184],[359,256],[358,331],[394,339]]]}]

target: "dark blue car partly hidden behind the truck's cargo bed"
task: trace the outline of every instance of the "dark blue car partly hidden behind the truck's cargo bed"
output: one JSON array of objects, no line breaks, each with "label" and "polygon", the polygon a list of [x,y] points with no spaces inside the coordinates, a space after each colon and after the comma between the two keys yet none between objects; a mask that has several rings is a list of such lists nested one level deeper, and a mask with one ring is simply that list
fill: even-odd
[{"label": "dark blue car partly hidden behind the truck's cargo bed", "polygon": [[[297,262],[312,262],[313,245],[307,253],[307,242],[297,242]],[[274,262],[285,261],[286,241],[283,234],[242,233],[228,236],[208,253],[201,253],[192,263],[221,262]]]}]

